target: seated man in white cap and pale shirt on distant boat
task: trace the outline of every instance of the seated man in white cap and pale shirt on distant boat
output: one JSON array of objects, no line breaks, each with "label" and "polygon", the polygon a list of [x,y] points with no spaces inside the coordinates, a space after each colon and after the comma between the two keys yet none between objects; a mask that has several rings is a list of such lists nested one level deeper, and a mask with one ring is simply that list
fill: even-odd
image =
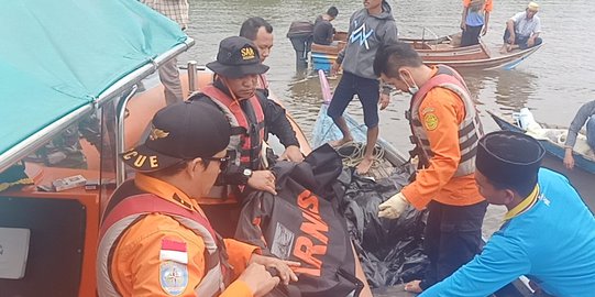
[{"label": "seated man in white cap and pale shirt on distant boat", "polygon": [[539,4],[529,2],[524,12],[519,12],[506,22],[504,31],[504,45],[500,48],[502,54],[506,54],[515,48],[526,50],[540,45],[542,40],[541,21],[537,15]]}]

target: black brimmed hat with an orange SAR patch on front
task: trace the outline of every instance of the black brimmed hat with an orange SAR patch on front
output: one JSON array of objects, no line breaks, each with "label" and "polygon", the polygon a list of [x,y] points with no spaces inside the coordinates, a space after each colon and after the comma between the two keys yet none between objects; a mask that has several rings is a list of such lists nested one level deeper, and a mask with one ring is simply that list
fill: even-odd
[{"label": "black brimmed hat with an orange SAR patch on front", "polygon": [[260,75],[268,70],[268,66],[261,63],[256,46],[250,40],[241,36],[222,40],[219,43],[217,61],[208,63],[207,67],[216,74],[229,78]]}]

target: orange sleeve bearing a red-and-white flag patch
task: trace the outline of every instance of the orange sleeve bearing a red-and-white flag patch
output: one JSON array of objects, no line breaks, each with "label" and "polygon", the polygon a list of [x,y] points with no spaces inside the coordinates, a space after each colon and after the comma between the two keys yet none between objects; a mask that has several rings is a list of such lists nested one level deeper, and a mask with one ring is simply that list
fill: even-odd
[{"label": "orange sleeve bearing a red-and-white flag patch", "polygon": [[[187,264],[163,258],[164,240],[186,248]],[[191,230],[167,216],[148,215],[120,240],[112,262],[113,283],[124,297],[196,296],[194,289],[205,276],[203,253],[205,242]],[[166,278],[174,283],[165,284]],[[244,282],[236,280],[221,296],[253,294]]]}]

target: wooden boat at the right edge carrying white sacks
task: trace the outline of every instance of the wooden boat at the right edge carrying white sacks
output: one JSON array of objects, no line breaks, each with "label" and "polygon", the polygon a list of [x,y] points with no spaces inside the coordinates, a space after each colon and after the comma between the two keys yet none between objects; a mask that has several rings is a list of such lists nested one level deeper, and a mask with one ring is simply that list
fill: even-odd
[{"label": "wooden boat at the right edge carrying white sacks", "polygon": [[[506,120],[504,117],[497,116],[494,112],[488,111],[489,116],[498,124],[502,130],[515,131],[526,133],[527,131],[521,129],[518,123],[513,119]],[[547,127],[546,124],[541,124]],[[549,125],[544,129],[542,138],[537,140],[543,145],[547,151],[546,158],[543,160],[543,166],[553,170],[560,172],[565,175],[571,184],[581,194],[581,197],[585,204],[595,210],[595,157],[585,154],[574,154],[575,167],[568,169],[564,164],[564,144],[560,139],[565,135],[568,129],[560,127]]]}]

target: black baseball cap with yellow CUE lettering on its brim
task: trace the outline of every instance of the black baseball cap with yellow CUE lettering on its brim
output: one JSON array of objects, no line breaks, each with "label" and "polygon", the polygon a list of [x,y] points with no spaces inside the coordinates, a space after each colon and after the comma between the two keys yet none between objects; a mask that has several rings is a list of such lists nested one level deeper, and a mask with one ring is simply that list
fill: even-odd
[{"label": "black baseball cap with yellow CUE lettering on its brim", "polygon": [[143,144],[120,154],[139,172],[156,172],[185,160],[212,157],[230,141],[231,125],[216,107],[201,101],[174,103],[157,111]]}]

